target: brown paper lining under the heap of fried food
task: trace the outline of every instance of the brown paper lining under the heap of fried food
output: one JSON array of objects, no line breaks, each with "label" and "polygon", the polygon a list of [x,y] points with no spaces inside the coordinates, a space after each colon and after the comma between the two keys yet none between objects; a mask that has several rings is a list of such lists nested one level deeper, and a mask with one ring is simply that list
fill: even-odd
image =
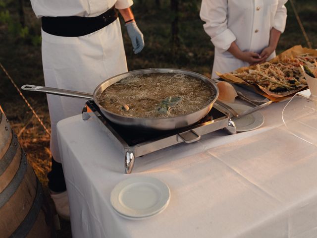
[{"label": "brown paper lining under the heap of fried food", "polygon": [[[302,46],[294,46],[286,51],[284,51],[283,53],[281,53],[280,55],[276,56],[275,58],[273,58],[272,60],[270,60],[269,62],[276,62],[279,60],[282,60],[284,57],[291,57],[291,56],[297,56],[297,55],[303,55],[303,54],[307,54],[309,53],[311,56],[316,56],[317,57],[317,51],[313,50],[313,49],[309,49],[309,48],[303,48]],[[250,67],[242,67],[239,68],[235,71],[237,72],[243,72],[249,69],[254,69],[256,66],[250,66]],[[229,81],[230,83],[236,83],[236,84],[244,84],[246,86],[248,86],[251,90],[254,90],[256,93],[263,95],[264,97],[268,98],[269,100],[272,100],[273,102],[280,102],[290,96],[293,96],[295,93],[307,88],[307,86],[298,88],[296,90],[292,90],[289,92],[283,92],[283,93],[273,93],[267,89],[265,89],[264,87],[258,85],[258,84],[249,84],[247,82],[245,82],[244,80],[242,80],[241,78],[238,78],[236,76],[234,76],[232,73],[219,73],[216,72],[216,74],[224,79]]]}]

